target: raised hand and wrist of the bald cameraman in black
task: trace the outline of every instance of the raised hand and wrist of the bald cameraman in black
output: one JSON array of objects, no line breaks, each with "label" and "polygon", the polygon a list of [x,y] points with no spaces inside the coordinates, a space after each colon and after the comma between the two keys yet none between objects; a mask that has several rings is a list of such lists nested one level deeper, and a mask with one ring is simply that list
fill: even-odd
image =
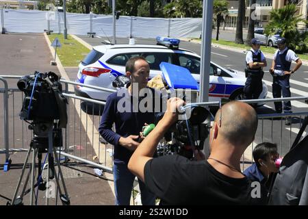
[{"label": "raised hand and wrist of the bald cameraman in black", "polygon": [[178,120],[178,114],[181,112],[179,108],[185,105],[185,101],[177,97],[172,97],[167,101],[167,110],[162,118],[162,122],[168,125],[172,125]]}]

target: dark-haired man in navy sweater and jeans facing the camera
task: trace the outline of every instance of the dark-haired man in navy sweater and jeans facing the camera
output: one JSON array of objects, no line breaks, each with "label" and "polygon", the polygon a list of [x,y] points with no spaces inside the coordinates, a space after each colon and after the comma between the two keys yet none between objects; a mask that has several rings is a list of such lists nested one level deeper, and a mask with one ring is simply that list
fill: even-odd
[{"label": "dark-haired man in navy sweater and jeans facing the camera", "polygon": [[[99,125],[101,136],[114,145],[113,172],[116,205],[130,203],[135,175],[128,170],[127,164],[139,145],[138,138],[144,123],[155,123],[155,111],[160,104],[160,102],[157,104],[154,98],[155,95],[159,97],[159,94],[155,93],[154,89],[146,87],[150,68],[144,57],[129,59],[125,71],[127,77],[131,79],[131,84],[128,88],[122,88],[108,96]],[[139,97],[142,92],[146,93],[144,99]],[[115,132],[112,131],[114,123]],[[140,180],[139,187],[142,205],[155,205],[155,195],[149,192]]]}]

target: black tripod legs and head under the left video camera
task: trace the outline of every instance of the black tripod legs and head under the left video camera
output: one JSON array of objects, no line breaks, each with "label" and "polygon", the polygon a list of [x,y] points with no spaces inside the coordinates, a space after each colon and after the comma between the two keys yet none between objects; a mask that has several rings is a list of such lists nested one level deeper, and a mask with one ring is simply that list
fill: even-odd
[{"label": "black tripod legs and head under the left video camera", "polygon": [[[62,133],[61,129],[57,129],[58,132],[55,133],[55,129],[53,129],[53,123],[42,123],[40,125],[30,125],[30,129],[34,130],[34,133],[43,133],[41,136],[40,135],[34,135],[34,139],[31,140],[31,144],[29,147],[29,151],[27,152],[27,157],[25,159],[25,163],[23,164],[23,170],[21,172],[21,177],[18,180],[18,184],[16,187],[16,190],[14,192],[14,196],[12,198],[12,203],[10,205],[23,205],[23,196],[27,194],[26,188],[27,188],[27,183],[29,182],[29,178],[31,175],[31,184],[30,184],[30,205],[33,205],[33,196],[34,196],[34,187],[38,186],[41,190],[46,189],[45,188],[45,183],[40,181],[41,179],[41,161],[42,161],[42,153],[48,153],[48,176],[47,176],[47,192],[55,192],[55,191],[50,191],[49,190],[49,179],[55,178],[55,181],[57,183],[57,189],[59,190],[60,194],[60,200],[62,201],[62,205],[70,205],[70,200],[68,198],[68,193],[66,190],[66,185],[64,183],[64,177],[62,175],[62,170],[60,167],[60,159],[57,155],[55,146],[53,146],[53,140],[55,139],[60,139],[58,143],[62,143]],[[57,136],[55,138],[55,135]],[[48,148],[46,147],[46,144],[48,144]],[[23,186],[23,191],[21,192],[21,196],[17,196],[19,187],[21,185],[21,181],[23,179],[23,175],[25,173],[25,169],[27,168],[28,164],[28,159],[30,157],[30,153],[32,152],[32,164],[31,164],[31,169],[29,169],[29,173],[27,175],[27,179],[25,181],[25,184]],[[38,155],[38,183],[34,185],[35,181],[35,168],[36,168],[36,155]],[[59,182],[59,177],[57,175],[57,172],[55,172],[54,168],[54,161],[53,159],[55,158],[55,162],[57,163],[57,168],[58,168],[58,173],[60,175],[60,179],[62,181],[62,186],[64,190],[64,194],[62,193],[62,189],[60,187],[60,182]],[[46,159],[45,159],[46,160]],[[49,197],[50,194],[46,194],[46,205],[49,205]]]}]

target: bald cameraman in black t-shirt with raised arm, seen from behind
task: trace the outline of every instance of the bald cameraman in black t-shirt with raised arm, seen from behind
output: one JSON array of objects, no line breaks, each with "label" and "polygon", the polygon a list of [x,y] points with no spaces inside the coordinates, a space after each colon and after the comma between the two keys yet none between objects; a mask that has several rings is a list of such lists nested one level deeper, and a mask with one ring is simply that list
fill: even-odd
[{"label": "bald cameraman in black t-shirt with raised arm, seen from behind", "polygon": [[255,138],[257,114],[242,102],[230,102],[218,110],[209,135],[210,157],[197,161],[179,155],[153,158],[157,143],[177,121],[176,109],[184,105],[178,98],[168,100],[167,110],[155,129],[140,143],[128,168],[155,193],[163,205],[259,205],[266,197],[240,171],[240,159]]}]

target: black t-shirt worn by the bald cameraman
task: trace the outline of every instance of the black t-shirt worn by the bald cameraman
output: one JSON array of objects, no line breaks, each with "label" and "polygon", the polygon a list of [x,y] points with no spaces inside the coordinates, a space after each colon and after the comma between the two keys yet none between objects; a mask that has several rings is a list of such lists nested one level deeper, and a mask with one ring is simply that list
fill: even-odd
[{"label": "black t-shirt worn by the bald cameraman", "polygon": [[[252,197],[248,178],[222,175],[207,161],[190,161],[179,155],[158,157],[146,162],[146,186],[161,198],[162,205],[265,205],[266,192]],[[255,190],[254,190],[255,191]],[[258,193],[253,191],[253,196]],[[258,195],[257,195],[258,196]]]}]

